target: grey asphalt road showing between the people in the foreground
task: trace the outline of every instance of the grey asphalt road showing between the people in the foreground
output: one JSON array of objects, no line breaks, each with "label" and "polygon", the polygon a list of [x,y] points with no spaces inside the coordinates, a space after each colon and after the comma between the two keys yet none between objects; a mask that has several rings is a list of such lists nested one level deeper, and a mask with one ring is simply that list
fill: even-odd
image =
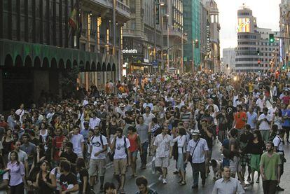
[{"label": "grey asphalt road showing between the people in the foreground", "polygon": [[[222,158],[221,155],[221,144],[214,144],[214,151],[212,152],[212,158],[220,159]],[[285,157],[287,162],[284,164],[284,174],[282,175],[280,186],[285,189],[284,192],[279,193],[290,193],[290,145],[286,144],[284,146],[285,149]],[[211,172],[206,180],[205,186],[202,186],[201,179],[199,183],[198,189],[192,189],[191,186],[193,185],[193,178],[192,178],[192,171],[191,166],[188,164],[186,168],[186,185],[179,186],[179,176],[173,174],[175,171],[175,162],[174,160],[170,161],[170,167],[168,168],[168,175],[167,175],[167,184],[163,185],[161,181],[158,181],[158,174],[152,174],[151,169],[151,158],[148,159],[149,164],[147,165],[147,169],[140,169],[140,159],[137,160],[137,174],[146,176],[149,181],[149,186],[156,190],[159,194],[176,194],[176,193],[212,193],[212,188],[214,187],[213,181],[213,173]],[[212,169],[211,169],[212,171]],[[247,170],[246,170],[247,171]],[[130,176],[131,169],[129,168],[126,174],[126,182],[125,182],[125,192],[127,194],[134,194],[137,192],[137,186],[135,184],[135,178]],[[247,179],[247,172],[246,172],[246,179]],[[256,182],[257,174],[255,174],[254,180]],[[105,181],[113,181],[116,185],[116,180],[113,179],[113,167],[109,166],[106,169]],[[99,185],[96,186],[99,188]],[[263,193],[262,183],[254,183],[254,185],[249,186],[245,189],[246,193]],[[99,193],[99,190],[96,189],[96,193]]]}]

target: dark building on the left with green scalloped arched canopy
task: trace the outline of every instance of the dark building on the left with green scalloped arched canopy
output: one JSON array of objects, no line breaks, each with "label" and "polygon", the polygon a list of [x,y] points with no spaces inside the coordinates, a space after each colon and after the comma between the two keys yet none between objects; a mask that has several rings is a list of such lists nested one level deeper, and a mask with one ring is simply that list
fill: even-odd
[{"label": "dark building on the left with green scalloped arched canopy", "polygon": [[[125,4],[116,1],[115,7],[120,25],[130,19]],[[94,72],[95,80],[88,75],[78,79],[86,88],[97,83],[97,76],[102,76],[103,85],[107,76],[117,78],[120,60],[111,55],[110,46],[102,53],[101,38],[95,38],[102,34],[102,41],[111,42],[112,36],[104,32],[112,12],[109,0],[0,1],[0,111],[22,102],[37,104],[42,92],[62,97],[60,81],[74,67]],[[102,31],[94,23],[96,18],[102,18]],[[121,44],[120,36],[121,32]]]}]

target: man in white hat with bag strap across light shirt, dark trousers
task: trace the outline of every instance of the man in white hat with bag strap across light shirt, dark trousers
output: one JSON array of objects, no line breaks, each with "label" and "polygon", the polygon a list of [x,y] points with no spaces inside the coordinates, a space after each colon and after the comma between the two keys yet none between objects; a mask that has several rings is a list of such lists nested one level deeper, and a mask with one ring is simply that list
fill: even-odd
[{"label": "man in white hat with bag strap across light shirt, dark trousers", "polygon": [[201,138],[199,130],[191,130],[193,139],[188,142],[186,162],[191,162],[191,168],[193,169],[193,186],[192,188],[198,188],[198,176],[202,178],[202,186],[205,185],[205,160],[208,158],[209,148],[207,141]]}]

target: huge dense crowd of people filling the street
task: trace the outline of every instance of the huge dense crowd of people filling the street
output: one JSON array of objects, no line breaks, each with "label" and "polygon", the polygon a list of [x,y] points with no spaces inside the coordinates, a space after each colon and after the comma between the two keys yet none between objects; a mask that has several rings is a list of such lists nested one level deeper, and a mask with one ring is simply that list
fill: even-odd
[{"label": "huge dense crowd of people filling the street", "polygon": [[[125,193],[127,172],[136,177],[138,193],[157,193],[137,171],[137,158],[145,170],[148,157],[163,184],[175,162],[180,186],[192,182],[198,189],[199,176],[205,186],[214,171],[223,178],[212,193],[244,193],[260,180],[264,193],[284,190],[279,181],[290,143],[285,74],[134,74],[105,89],[78,88],[74,97],[43,97],[37,106],[20,104],[2,114],[0,193],[93,193],[96,187]],[[213,151],[223,160],[211,170],[212,159],[219,159]],[[105,183],[109,163],[116,183]]]}]

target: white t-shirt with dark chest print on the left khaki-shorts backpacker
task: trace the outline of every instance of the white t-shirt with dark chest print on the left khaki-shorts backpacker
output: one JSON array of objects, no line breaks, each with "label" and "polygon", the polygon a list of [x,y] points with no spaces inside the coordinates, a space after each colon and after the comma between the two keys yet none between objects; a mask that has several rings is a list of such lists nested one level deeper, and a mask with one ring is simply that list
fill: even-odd
[{"label": "white t-shirt with dark chest print on the left khaki-shorts backpacker", "polygon": [[95,156],[95,153],[102,151],[103,146],[108,145],[108,141],[106,141],[106,137],[104,137],[104,135],[102,135],[102,140],[103,145],[100,135],[97,137],[95,135],[91,137],[90,146],[92,146],[92,153],[90,155],[90,159],[106,159],[106,152],[100,153],[97,157]]}]

